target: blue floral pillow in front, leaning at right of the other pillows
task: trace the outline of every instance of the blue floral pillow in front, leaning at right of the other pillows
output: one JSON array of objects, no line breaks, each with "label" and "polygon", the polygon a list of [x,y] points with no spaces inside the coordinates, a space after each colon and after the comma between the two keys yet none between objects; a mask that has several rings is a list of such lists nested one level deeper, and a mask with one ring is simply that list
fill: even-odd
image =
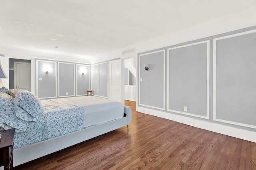
[{"label": "blue floral pillow in front, leaning at right of the other pillows", "polygon": [[[41,101],[27,90],[16,90],[14,110],[17,117],[26,121],[44,121],[45,113]],[[24,109],[28,114],[22,111]]]}]

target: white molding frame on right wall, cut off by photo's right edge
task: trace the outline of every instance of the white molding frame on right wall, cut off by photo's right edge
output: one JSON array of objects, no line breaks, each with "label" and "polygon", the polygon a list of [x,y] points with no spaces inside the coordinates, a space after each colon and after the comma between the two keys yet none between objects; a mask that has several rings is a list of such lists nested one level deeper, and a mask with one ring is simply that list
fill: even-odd
[{"label": "white molding frame on right wall, cut off by photo's right edge", "polygon": [[240,35],[246,35],[246,34],[255,33],[255,32],[256,32],[256,29],[213,39],[213,82],[212,82],[213,83],[213,100],[212,100],[213,105],[212,106],[213,106],[213,120],[214,121],[219,121],[219,122],[224,122],[224,123],[229,123],[229,124],[233,124],[233,125],[239,125],[239,126],[250,127],[250,128],[256,129],[256,126],[254,126],[254,125],[248,125],[245,123],[238,123],[238,122],[234,122],[234,121],[227,121],[227,120],[216,118],[216,41],[218,41],[220,39],[227,39],[227,38],[236,37],[236,36],[240,36]]}]

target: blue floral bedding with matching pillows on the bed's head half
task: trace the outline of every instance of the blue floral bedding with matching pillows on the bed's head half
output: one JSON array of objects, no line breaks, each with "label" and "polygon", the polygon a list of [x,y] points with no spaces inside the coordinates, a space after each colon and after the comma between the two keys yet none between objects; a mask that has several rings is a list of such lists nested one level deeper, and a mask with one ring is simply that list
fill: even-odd
[{"label": "blue floral bedding with matching pillows on the bed's head half", "polygon": [[0,128],[15,128],[14,149],[78,131],[83,122],[84,109],[70,101],[0,88]]}]

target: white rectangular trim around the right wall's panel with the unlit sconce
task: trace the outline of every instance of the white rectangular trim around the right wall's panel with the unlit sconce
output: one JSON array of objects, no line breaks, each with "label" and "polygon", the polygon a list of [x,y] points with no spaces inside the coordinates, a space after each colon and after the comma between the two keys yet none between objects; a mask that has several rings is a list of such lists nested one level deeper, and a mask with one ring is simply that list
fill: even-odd
[{"label": "white rectangular trim around the right wall's panel with the unlit sconce", "polygon": [[155,109],[161,109],[161,110],[165,110],[165,49],[164,50],[158,50],[158,51],[154,51],[154,52],[150,52],[150,53],[144,53],[144,54],[141,54],[141,55],[139,55],[139,62],[138,62],[138,73],[139,73],[139,76],[138,76],[138,81],[139,81],[139,87],[141,88],[141,86],[140,86],[140,57],[141,56],[144,56],[144,55],[149,55],[149,54],[154,54],[154,53],[160,53],[160,52],[164,52],[164,55],[163,55],[163,57],[164,57],[164,64],[163,64],[163,78],[164,78],[164,88],[163,88],[163,98],[164,98],[164,100],[163,100],[163,108],[161,108],[161,107],[154,107],[154,106],[148,106],[148,105],[144,105],[144,104],[141,104],[140,103],[140,92],[141,92],[141,90],[139,90],[139,105],[141,105],[141,106],[146,106],[146,107],[151,107],[151,108],[155,108]]}]

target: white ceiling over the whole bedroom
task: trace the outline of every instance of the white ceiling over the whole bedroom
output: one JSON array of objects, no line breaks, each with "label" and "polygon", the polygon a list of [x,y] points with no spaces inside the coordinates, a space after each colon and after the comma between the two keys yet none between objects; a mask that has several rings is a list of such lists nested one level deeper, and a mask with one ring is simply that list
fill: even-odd
[{"label": "white ceiling over the whole bedroom", "polygon": [[256,6],[256,0],[0,0],[0,47],[101,56]]}]

